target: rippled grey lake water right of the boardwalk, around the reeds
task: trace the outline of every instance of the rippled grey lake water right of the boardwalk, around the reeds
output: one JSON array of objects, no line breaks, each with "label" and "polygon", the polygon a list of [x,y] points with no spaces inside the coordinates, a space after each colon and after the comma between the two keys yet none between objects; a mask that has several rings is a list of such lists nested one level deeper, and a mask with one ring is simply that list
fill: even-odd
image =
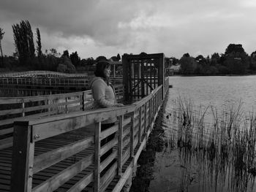
[{"label": "rippled grey lake water right of the boardwalk, around the reeds", "polygon": [[256,191],[255,174],[242,172],[237,177],[229,162],[219,163],[219,158],[209,160],[207,155],[179,148],[176,138],[178,97],[191,102],[193,109],[210,106],[220,114],[240,106],[241,112],[247,114],[256,107],[256,76],[170,77],[169,80],[173,88],[169,90],[162,121],[165,147],[155,155],[148,191]]}]

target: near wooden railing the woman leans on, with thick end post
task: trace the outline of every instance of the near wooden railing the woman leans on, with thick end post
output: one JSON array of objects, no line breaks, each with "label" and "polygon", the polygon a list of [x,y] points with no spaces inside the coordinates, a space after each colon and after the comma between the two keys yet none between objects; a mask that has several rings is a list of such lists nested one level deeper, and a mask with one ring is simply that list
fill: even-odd
[{"label": "near wooden railing the woman leans on, with thick end post", "polygon": [[[146,145],[162,104],[162,89],[160,85],[142,100],[125,107],[16,121],[11,191],[17,188],[19,191],[55,191],[61,187],[67,191],[82,191],[83,188],[105,191],[114,177],[118,179],[113,191],[120,191]],[[113,117],[118,117],[118,123],[101,131],[102,121]],[[94,133],[83,135],[89,126],[94,127]],[[72,131],[78,131],[80,137],[72,140]],[[66,145],[49,150],[44,148],[44,153],[42,148],[40,153],[37,151],[37,143],[47,143],[48,139],[64,137],[67,133],[69,143]],[[113,133],[117,137],[101,146],[100,141]],[[113,153],[101,162],[100,157],[112,147]],[[74,157],[77,161],[70,161]],[[114,159],[116,161],[110,164]],[[53,166],[57,167],[60,162],[65,166],[53,172]],[[103,173],[108,165],[110,169]],[[69,180],[72,185],[65,184]]]}]

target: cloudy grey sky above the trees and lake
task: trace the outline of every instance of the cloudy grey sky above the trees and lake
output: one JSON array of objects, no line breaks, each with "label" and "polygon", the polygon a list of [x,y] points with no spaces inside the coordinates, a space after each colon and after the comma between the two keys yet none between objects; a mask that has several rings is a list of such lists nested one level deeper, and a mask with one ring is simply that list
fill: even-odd
[{"label": "cloudy grey sky above the trees and lake", "polygon": [[[42,50],[80,58],[124,53],[224,53],[230,43],[256,50],[255,0],[1,0],[4,55],[15,52],[12,25],[29,20]],[[36,45],[36,44],[35,44]]]}]

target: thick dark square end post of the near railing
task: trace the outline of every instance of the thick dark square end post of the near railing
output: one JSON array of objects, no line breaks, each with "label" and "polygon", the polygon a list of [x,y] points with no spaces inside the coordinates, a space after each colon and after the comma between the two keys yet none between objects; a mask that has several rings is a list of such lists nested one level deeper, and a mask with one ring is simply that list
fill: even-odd
[{"label": "thick dark square end post of the near railing", "polygon": [[29,122],[16,122],[13,131],[11,192],[31,191],[34,142]]}]

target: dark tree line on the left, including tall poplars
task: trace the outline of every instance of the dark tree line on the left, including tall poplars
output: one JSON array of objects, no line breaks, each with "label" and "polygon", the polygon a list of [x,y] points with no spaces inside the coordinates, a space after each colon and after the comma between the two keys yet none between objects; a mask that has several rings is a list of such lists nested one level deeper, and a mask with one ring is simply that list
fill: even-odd
[{"label": "dark tree line on the left, including tall poplars", "polygon": [[[36,28],[36,43],[34,45],[34,34],[28,20],[12,25],[15,53],[11,56],[3,55],[1,40],[4,37],[3,28],[0,28],[0,72],[4,71],[27,71],[46,70],[55,72],[87,72],[94,70],[93,64],[104,56],[96,59],[89,57],[81,59],[78,52],[69,54],[68,50],[58,53],[56,49],[50,48],[42,52],[41,35]],[[104,57],[105,58],[105,57]],[[106,58],[105,58],[106,59]],[[110,58],[112,61],[120,61],[119,54]]]}]

